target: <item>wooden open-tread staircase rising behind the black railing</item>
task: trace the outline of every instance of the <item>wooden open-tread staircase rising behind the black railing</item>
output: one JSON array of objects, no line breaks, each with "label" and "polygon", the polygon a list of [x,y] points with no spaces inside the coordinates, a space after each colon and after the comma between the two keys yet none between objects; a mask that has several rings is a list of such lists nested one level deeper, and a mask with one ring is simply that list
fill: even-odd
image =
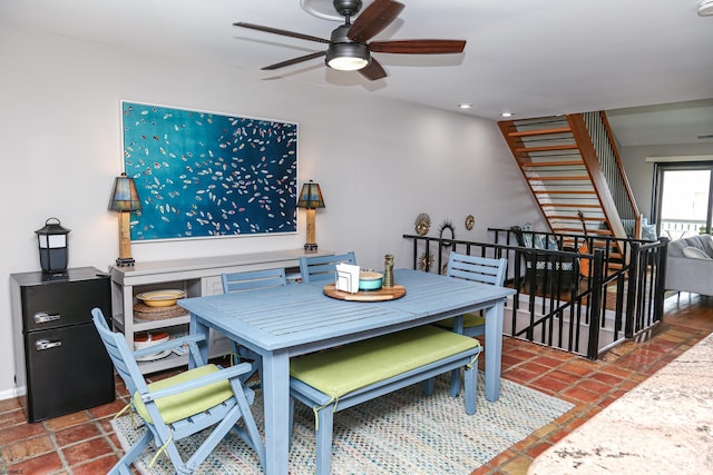
[{"label": "wooden open-tread staircase rising behind the black railing", "polygon": [[627,237],[622,219],[633,219],[634,228],[641,229],[641,215],[604,112],[508,120],[498,126],[551,232],[588,236],[592,251],[597,236]]}]

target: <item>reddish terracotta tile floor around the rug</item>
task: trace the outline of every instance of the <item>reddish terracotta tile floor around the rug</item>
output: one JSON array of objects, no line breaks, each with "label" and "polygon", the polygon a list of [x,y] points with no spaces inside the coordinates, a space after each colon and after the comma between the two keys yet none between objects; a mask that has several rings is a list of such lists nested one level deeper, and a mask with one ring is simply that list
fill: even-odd
[{"label": "reddish terracotta tile floor around the rug", "polygon": [[[534,457],[711,331],[713,297],[682,294],[666,299],[664,324],[653,337],[621,345],[597,362],[505,338],[505,378],[575,407],[473,474],[525,474]],[[0,400],[0,474],[106,473],[121,454],[109,425],[127,400],[120,383],[117,394],[113,404],[36,424],[26,422],[17,399]]]}]

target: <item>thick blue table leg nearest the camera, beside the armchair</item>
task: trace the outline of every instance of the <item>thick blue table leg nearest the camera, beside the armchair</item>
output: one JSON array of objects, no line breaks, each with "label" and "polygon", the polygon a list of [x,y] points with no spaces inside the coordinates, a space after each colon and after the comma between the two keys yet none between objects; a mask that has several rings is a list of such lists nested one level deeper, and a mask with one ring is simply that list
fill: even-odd
[{"label": "thick blue table leg nearest the camera, beside the armchair", "polygon": [[290,453],[290,357],[287,352],[263,354],[265,402],[265,474],[286,475]]}]

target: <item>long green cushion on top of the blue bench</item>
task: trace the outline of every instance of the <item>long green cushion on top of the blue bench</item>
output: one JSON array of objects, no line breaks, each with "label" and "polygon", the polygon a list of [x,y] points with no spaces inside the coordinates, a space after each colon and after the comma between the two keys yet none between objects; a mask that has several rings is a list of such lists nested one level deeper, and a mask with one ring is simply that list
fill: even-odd
[{"label": "long green cushion on top of the blue bench", "polygon": [[479,345],[475,338],[428,325],[293,358],[290,374],[338,399]]}]

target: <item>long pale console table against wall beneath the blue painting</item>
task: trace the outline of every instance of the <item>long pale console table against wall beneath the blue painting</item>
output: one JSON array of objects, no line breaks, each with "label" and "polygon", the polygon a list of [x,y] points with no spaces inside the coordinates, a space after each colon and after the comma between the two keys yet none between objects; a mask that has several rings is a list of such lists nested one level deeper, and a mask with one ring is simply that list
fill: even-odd
[{"label": "long pale console table against wall beneath the blue painting", "polygon": [[[332,251],[320,250],[305,254],[303,249],[275,250],[267,253],[215,256],[191,259],[157,260],[136,263],[130,267],[109,267],[111,277],[111,317],[114,328],[126,335],[129,347],[134,347],[134,335],[143,331],[166,331],[182,335],[188,331],[191,316],[185,315],[162,320],[143,320],[134,315],[136,296],[144,291],[182,289],[188,297],[202,297],[223,293],[221,275],[284,267],[287,274],[299,275],[301,256],[326,256]],[[231,342],[223,335],[212,333],[208,342],[209,356],[221,356],[231,352]],[[187,364],[186,355],[168,355],[154,360],[141,362],[144,374]]]}]

